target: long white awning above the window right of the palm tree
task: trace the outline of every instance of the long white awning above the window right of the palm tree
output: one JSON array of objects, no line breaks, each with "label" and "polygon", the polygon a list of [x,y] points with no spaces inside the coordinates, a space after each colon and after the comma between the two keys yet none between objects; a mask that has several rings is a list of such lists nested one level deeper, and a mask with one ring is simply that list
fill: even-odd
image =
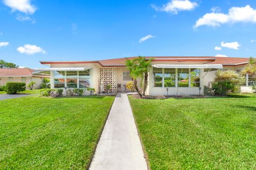
[{"label": "long white awning above the window right of the palm tree", "polygon": [[223,69],[221,64],[155,64],[152,66],[166,69]]}]

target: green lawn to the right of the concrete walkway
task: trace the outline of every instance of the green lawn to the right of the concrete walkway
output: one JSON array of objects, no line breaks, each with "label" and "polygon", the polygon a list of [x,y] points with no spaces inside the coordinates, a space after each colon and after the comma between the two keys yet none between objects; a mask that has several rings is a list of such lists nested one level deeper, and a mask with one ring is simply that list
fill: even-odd
[{"label": "green lawn to the right of the concrete walkway", "polygon": [[129,96],[151,169],[256,169],[256,95]]}]

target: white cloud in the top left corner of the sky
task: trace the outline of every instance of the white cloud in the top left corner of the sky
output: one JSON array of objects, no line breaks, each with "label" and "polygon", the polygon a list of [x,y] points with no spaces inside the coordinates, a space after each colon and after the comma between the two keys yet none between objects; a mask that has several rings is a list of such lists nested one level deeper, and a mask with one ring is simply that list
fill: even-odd
[{"label": "white cloud in the top left corner of the sky", "polygon": [[36,7],[30,0],[4,0],[4,4],[12,8],[12,11],[20,11],[26,14],[34,14]]}]

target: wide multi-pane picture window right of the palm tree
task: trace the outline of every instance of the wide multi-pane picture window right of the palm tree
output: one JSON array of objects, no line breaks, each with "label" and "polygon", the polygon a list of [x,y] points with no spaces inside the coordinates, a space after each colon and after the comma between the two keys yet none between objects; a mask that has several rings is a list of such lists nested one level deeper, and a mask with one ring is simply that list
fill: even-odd
[{"label": "wide multi-pane picture window right of the palm tree", "polygon": [[200,87],[200,69],[153,68],[154,87]]}]

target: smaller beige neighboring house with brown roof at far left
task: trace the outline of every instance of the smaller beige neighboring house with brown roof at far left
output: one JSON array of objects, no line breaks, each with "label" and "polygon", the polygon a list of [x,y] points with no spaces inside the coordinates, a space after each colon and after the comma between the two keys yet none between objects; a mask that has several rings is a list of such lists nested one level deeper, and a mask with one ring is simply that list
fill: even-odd
[{"label": "smaller beige neighboring house with brown roof at far left", "polygon": [[33,75],[34,70],[28,68],[0,69],[0,86],[7,82],[24,82],[26,86],[34,81],[34,89],[39,89],[43,78],[50,78],[46,75]]}]

